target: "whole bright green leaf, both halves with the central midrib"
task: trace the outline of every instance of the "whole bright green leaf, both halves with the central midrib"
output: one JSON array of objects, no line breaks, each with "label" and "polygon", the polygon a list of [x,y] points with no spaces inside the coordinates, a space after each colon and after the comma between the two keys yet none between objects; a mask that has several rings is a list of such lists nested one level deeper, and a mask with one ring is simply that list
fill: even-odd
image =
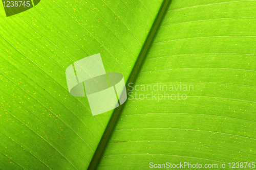
[{"label": "whole bright green leaf, both halves with the central midrib", "polygon": [[[255,1],[173,0],[154,25],[164,2],[40,1],[10,17],[0,5],[1,169],[254,169]],[[97,53],[134,90],[92,116],[65,69]]]}]

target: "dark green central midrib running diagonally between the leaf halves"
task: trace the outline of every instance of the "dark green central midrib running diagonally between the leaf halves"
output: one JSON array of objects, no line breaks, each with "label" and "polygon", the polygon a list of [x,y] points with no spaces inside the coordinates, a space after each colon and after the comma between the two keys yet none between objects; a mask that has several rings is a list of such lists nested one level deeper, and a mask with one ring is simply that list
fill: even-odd
[{"label": "dark green central midrib running diagonally between the leaf halves", "polygon": [[[163,20],[164,14],[166,13],[167,8],[169,7],[170,1],[171,0],[164,0],[159,9],[159,12],[155,18],[152,28],[151,28],[150,32],[148,33],[147,38],[141,48],[140,54],[135,62],[135,65],[133,67],[131,75],[129,76],[129,78],[126,82],[126,90],[128,89],[127,85],[129,83],[135,83],[135,81],[139,75],[140,69],[141,69],[141,67],[145,61],[145,58],[147,56],[147,53],[150,50],[150,47],[154,41],[154,38],[157,34],[157,31],[161,25],[162,20]],[[110,138],[115,130],[116,124],[118,122],[118,119],[119,119],[122,111],[123,111],[125,104],[126,104],[126,102],[114,110],[114,112],[109,120],[109,123],[106,126],[105,131],[99,141],[98,147],[93,155],[93,158],[88,166],[88,170],[97,169],[97,167],[100,163],[100,160],[105,152],[105,149],[110,141]]]}]

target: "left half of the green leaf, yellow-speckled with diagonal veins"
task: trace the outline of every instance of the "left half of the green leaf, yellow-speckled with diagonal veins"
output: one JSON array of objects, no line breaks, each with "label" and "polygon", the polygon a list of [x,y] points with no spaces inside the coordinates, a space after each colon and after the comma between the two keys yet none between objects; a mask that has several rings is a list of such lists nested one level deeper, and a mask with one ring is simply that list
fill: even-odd
[{"label": "left half of the green leaf, yellow-speckled with diagonal veins", "polygon": [[101,54],[126,81],[161,1],[41,1],[10,17],[1,5],[1,169],[86,169],[112,111],[92,116],[65,70]]}]

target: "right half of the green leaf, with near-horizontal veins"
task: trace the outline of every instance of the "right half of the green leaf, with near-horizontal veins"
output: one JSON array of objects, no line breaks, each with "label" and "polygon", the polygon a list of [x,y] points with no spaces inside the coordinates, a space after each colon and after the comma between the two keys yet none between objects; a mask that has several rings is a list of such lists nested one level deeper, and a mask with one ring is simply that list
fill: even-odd
[{"label": "right half of the green leaf, with near-horizontal veins", "polygon": [[254,162],[255,5],[172,1],[98,169]]}]

